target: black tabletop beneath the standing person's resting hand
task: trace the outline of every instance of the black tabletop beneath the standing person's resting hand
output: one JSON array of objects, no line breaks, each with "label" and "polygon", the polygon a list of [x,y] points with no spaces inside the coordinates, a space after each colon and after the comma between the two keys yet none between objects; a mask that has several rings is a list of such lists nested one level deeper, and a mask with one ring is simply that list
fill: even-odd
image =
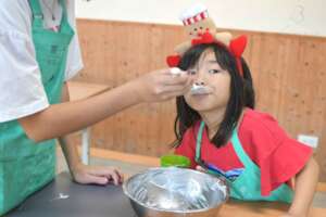
[{"label": "black tabletop beneath the standing person's resting hand", "polygon": [[[59,199],[61,194],[62,199]],[[122,187],[82,186],[70,174],[28,197],[5,217],[136,217]]]}]

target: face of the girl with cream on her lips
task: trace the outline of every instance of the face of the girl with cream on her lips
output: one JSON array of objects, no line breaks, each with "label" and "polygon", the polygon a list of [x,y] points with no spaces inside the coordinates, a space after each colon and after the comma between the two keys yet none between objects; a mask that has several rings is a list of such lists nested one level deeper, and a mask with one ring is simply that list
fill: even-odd
[{"label": "face of the girl with cream on her lips", "polygon": [[195,84],[206,86],[209,89],[209,93],[205,94],[191,94],[188,91],[185,100],[190,107],[198,112],[226,107],[230,93],[230,75],[220,66],[212,49],[205,50],[198,63],[188,68],[188,73],[193,76]]}]

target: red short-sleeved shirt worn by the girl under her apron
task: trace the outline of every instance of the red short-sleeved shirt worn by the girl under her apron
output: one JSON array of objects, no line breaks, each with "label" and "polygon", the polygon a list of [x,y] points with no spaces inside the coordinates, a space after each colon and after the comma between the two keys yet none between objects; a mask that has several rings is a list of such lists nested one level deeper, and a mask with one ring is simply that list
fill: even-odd
[{"label": "red short-sleeved shirt worn by the girl under her apron", "polygon": [[[196,138],[199,129],[197,123],[189,128],[175,153],[188,156],[191,167],[197,163]],[[248,156],[261,169],[261,193],[268,195],[281,183],[289,181],[306,164],[312,149],[289,138],[278,123],[268,114],[247,108],[239,125],[238,137]],[[233,144],[228,142],[217,149],[210,142],[204,129],[202,137],[201,157],[204,162],[223,170],[243,168]]]}]

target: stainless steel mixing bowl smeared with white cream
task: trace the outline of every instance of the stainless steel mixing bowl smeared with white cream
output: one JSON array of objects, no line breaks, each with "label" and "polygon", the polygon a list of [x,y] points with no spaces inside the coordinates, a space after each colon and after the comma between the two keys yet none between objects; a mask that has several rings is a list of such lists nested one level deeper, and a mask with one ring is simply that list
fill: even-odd
[{"label": "stainless steel mixing bowl smeared with white cream", "polygon": [[123,190],[139,217],[215,217],[228,199],[221,179],[177,167],[145,170],[130,177]]}]

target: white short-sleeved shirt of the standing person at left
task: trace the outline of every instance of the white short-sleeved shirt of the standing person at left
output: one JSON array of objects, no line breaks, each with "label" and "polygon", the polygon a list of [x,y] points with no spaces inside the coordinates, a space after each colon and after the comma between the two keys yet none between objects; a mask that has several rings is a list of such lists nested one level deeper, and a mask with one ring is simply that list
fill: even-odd
[{"label": "white short-sleeved shirt of the standing person at left", "polygon": [[[62,15],[58,0],[40,0],[40,3],[45,27],[58,26]],[[83,67],[74,0],[67,0],[67,14],[76,34],[68,48],[65,80]],[[49,106],[36,62],[32,22],[28,0],[0,0],[0,123],[28,116]]]}]

